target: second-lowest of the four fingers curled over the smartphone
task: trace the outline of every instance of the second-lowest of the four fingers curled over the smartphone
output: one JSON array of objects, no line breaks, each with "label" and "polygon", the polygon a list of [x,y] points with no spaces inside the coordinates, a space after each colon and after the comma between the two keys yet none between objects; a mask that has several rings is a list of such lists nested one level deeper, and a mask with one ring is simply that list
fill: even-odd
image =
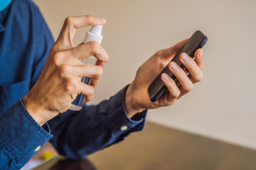
[{"label": "second-lowest of the four fingers curled over the smartphone", "polygon": [[184,89],[185,93],[190,92],[193,89],[193,83],[186,75],[186,73],[180,68],[175,62],[168,64],[170,71],[177,77],[180,82],[180,85]]}]

